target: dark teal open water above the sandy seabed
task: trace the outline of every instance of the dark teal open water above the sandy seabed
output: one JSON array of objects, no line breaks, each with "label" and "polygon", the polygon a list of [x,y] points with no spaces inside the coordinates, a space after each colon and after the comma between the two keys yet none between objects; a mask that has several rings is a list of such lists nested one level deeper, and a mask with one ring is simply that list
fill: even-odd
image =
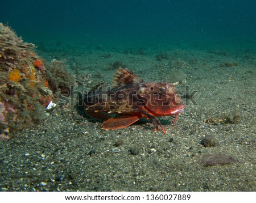
[{"label": "dark teal open water above the sandy seabed", "polygon": [[1,0],[24,41],[117,45],[254,43],[255,0]]}]

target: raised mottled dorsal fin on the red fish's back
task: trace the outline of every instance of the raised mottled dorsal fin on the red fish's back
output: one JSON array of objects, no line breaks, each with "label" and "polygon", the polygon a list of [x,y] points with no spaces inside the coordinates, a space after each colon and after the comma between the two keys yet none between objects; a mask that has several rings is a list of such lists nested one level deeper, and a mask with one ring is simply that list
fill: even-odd
[{"label": "raised mottled dorsal fin on the red fish's back", "polygon": [[113,75],[112,87],[122,87],[126,84],[134,84],[134,83],[141,83],[142,79],[138,77],[135,73],[128,69],[123,69],[119,67],[117,71]]}]

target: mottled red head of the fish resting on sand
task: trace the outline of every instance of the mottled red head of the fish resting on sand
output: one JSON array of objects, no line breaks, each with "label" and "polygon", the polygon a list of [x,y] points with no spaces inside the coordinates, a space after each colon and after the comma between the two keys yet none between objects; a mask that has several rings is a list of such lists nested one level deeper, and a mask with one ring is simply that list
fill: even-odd
[{"label": "mottled red head of the fish resting on sand", "polygon": [[177,115],[185,108],[172,83],[142,82],[138,95],[144,102],[144,108],[156,117]]}]

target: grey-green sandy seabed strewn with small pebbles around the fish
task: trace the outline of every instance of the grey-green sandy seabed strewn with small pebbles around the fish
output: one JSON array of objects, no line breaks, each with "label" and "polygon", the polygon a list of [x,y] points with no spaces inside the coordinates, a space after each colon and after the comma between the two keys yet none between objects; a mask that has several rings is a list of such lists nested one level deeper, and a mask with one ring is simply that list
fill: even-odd
[{"label": "grey-green sandy seabed strewn with small pebbles around the fish", "polygon": [[[81,109],[58,105],[42,123],[0,142],[1,191],[256,191],[256,50],[67,49],[59,43],[38,52],[46,61],[65,60],[74,77],[84,75],[77,90],[110,84],[119,63],[143,81],[179,82],[186,108],[175,125],[174,117],[160,118],[164,134],[145,120],[102,130]],[[203,146],[205,136],[216,145]],[[236,163],[204,166],[205,154]]]}]

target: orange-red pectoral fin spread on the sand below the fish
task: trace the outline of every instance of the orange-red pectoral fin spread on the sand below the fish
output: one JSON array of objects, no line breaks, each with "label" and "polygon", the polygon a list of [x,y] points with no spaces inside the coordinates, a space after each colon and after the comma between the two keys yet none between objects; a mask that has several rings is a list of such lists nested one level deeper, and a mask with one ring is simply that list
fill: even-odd
[{"label": "orange-red pectoral fin spread on the sand below the fish", "polygon": [[106,120],[102,124],[102,129],[105,130],[115,130],[118,128],[126,128],[127,126],[133,124],[134,122],[138,121],[140,119],[139,116],[117,116],[117,117],[112,117],[108,120]]}]

